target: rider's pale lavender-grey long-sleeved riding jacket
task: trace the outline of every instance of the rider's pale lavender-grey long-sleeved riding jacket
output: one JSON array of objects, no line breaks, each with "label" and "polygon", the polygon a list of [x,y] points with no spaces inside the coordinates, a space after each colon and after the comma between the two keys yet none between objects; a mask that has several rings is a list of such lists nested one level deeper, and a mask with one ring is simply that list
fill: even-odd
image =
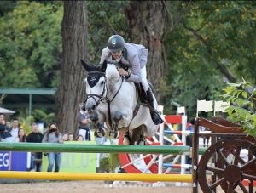
[{"label": "rider's pale lavender-grey long-sleeved riding jacket", "polygon": [[[126,53],[123,54],[120,62],[131,69],[131,76],[127,80],[139,83],[141,82],[141,69],[147,63],[148,49],[143,45],[125,43],[125,51]],[[113,57],[108,47],[102,50],[100,63],[102,64],[104,60],[113,62]]]}]

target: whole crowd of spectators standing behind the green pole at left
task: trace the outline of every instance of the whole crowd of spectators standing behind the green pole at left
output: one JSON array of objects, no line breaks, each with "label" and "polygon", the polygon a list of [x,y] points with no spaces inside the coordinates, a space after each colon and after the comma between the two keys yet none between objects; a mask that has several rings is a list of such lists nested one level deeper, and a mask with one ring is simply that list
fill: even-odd
[{"label": "whole crowd of spectators standing behind the green pole at left", "polygon": [[[86,117],[88,118],[88,117]],[[82,120],[80,118],[80,120]],[[7,124],[8,123],[8,124]],[[81,129],[81,128],[79,128]],[[87,128],[86,128],[87,129]],[[84,141],[84,136],[88,135],[86,133],[78,133],[75,140]],[[49,127],[46,131],[40,131],[38,128],[38,123],[33,122],[31,125],[31,131],[26,133],[25,128],[20,126],[18,118],[14,118],[11,122],[6,122],[5,116],[0,114],[0,142],[17,142],[17,143],[60,143],[62,144],[65,141],[73,141],[73,133],[64,133],[60,132],[57,123],[49,123]],[[88,138],[86,140],[90,140]],[[54,172],[59,172],[61,167],[61,153],[60,152],[31,152],[31,162],[30,162],[30,171],[40,172],[42,170],[42,158],[44,156],[48,157],[48,172],[52,172],[53,167],[55,166]]]}]

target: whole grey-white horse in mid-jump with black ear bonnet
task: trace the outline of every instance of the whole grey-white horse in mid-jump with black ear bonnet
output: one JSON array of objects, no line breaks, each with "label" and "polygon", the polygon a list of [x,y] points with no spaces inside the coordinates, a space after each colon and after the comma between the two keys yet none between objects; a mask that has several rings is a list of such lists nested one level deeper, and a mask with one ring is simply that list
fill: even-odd
[{"label": "whole grey-white horse in mid-jump with black ear bonnet", "polygon": [[[84,109],[93,122],[106,122],[108,132],[114,139],[124,133],[123,144],[140,144],[145,137],[153,136],[158,125],[154,125],[147,105],[138,102],[134,82],[128,82],[119,75],[118,66],[107,63],[89,65],[81,60],[88,77],[87,99]],[[154,99],[155,106],[156,99]]]}]

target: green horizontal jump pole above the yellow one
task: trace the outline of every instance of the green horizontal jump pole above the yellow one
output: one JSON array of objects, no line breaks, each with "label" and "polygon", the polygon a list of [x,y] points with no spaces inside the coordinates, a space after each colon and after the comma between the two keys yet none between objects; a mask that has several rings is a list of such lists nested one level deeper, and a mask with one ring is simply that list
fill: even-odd
[{"label": "green horizontal jump pole above the yellow one", "polygon": [[[35,152],[80,152],[80,153],[151,153],[183,155],[191,152],[189,146],[170,145],[79,145],[57,143],[0,143],[0,150]],[[205,149],[201,149],[203,153]]]}]

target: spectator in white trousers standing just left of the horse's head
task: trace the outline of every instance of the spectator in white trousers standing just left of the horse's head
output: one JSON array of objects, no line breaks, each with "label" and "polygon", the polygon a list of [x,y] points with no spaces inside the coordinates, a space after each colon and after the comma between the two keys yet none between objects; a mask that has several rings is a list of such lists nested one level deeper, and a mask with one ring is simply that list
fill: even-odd
[{"label": "spectator in white trousers standing just left of the horse's head", "polygon": [[79,104],[80,111],[77,115],[79,121],[79,135],[82,135],[84,140],[90,141],[90,117],[87,111],[82,110],[83,104]]}]

